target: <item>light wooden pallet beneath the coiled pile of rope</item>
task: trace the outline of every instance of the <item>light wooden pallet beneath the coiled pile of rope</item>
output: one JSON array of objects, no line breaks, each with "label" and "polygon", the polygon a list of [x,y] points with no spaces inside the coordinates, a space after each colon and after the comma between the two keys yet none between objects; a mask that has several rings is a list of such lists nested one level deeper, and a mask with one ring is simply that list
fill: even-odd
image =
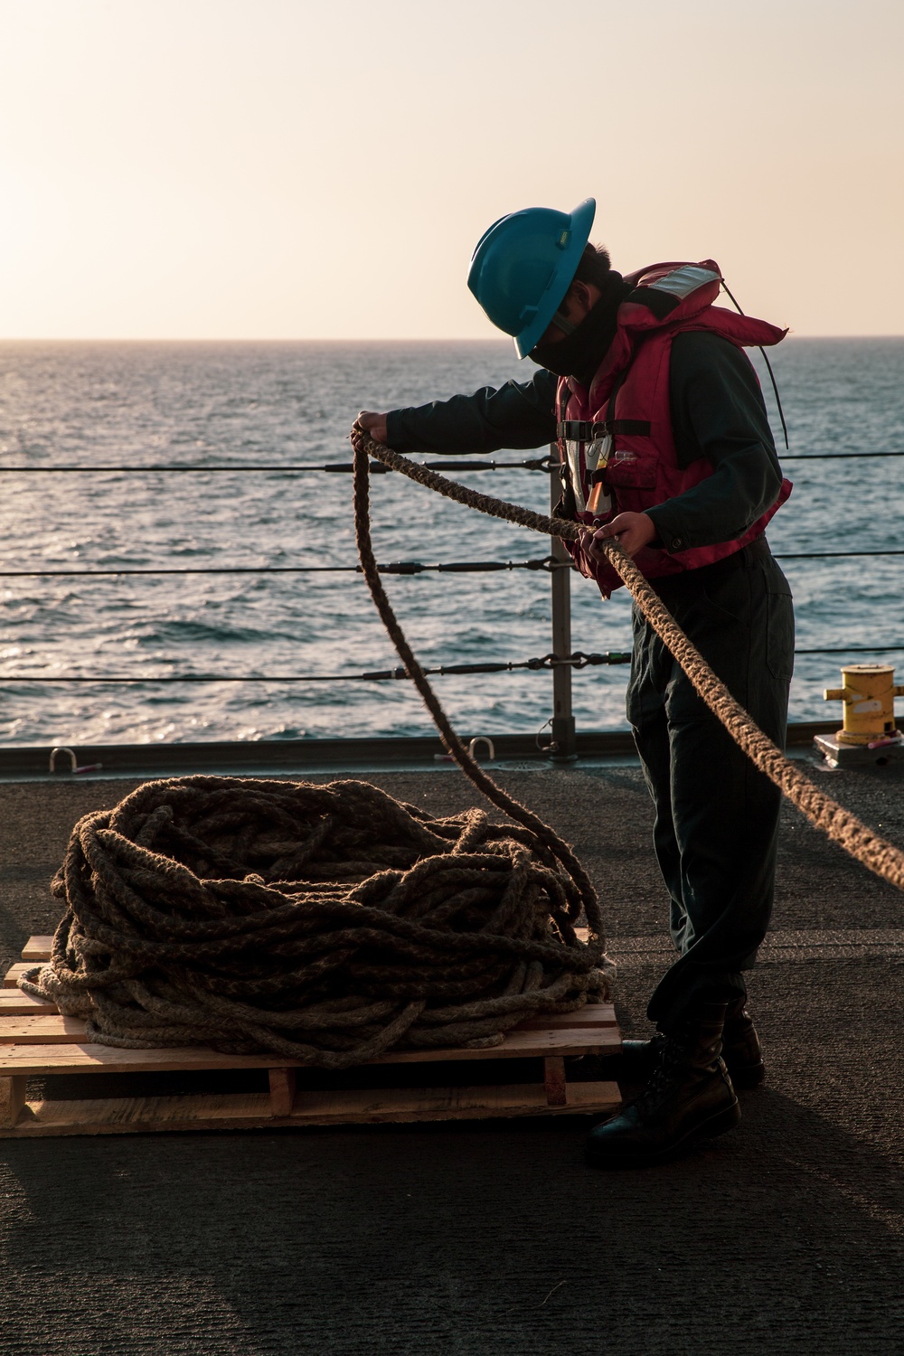
[{"label": "light wooden pallet beneath the coiled pile of rope", "polygon": [[[92,1045],[80,1018],[16,989],[23,971],[47,960],[50,937],[31,937],[0,990],[0,1138],[121,1135],[150,1130],[249,1130],[382,1121],[478,1120],[489,1116],[552,1116],[611,1112],[614,1082],[568,1082],[569,1055],[618,1054],[621,1035],[611,1003],[531,1018],[489,1050],[392,1051],[373,1064],[542,1059],[543,1082],[451,1088],[339,1089],[304,1086],[301,1060],[282,1055],[224,1055],[205,1045],[184,1050],[118,1050]],[[175,1097],[87,1097],[28,1101],[28,1078],[57,1074],[155,1074],[266,1069],[270,1092]]]}]

